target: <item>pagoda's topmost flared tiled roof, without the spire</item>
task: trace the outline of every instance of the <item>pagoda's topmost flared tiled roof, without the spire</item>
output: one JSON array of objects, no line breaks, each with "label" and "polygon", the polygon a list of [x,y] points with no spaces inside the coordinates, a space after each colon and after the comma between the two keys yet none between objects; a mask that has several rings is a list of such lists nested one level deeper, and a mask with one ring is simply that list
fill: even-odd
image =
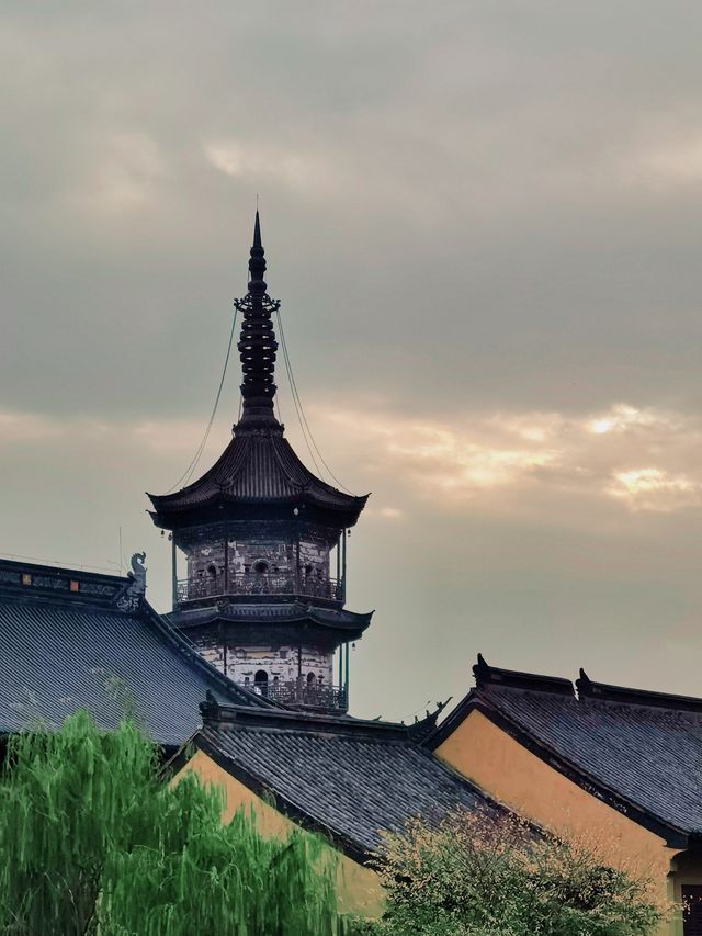
[{"label": "pagoda's topmost flared tiled roof, without the spire", "polygon": [[148,496],[159,517],[218,500],[256,504],[306,500],[351,514],[349,522],[355,522],[367,500],[367,496],[344,494],[316,477],[297,458],[280,426],[258,432],[235,429],[233,440],[201,478],[173,494]]}]

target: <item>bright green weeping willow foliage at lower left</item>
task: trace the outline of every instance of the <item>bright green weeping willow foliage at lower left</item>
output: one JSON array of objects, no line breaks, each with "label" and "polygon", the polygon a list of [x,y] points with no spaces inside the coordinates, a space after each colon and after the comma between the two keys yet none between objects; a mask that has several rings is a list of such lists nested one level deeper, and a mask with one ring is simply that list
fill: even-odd
[{"label": "bright green weeping willow foliage at lower left", "polygon": [[332,936],[333,853],[263,839],[194,776],[166,786],[155,745],[86,712],[14,736],[0,776],[0,933]]}]

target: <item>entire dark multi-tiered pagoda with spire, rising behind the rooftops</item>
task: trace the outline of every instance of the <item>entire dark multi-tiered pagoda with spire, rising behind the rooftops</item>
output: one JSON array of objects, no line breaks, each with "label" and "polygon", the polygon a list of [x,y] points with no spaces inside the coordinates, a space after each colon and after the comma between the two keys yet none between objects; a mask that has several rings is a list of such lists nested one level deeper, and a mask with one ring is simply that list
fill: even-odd
[{"label": "entire dark multi-tiered pagoda with spire, rising behind the rooftops", "polygon": [[242,381],[231,441],[194,483],[148,495],[154,522],[170,532],[169,620],[235,683],[286,706],[344,712],[349,643],[372,617],[344,608],[347,535],[367,495],[316,477],[275,417],[280,303],[265,267],[257,211],[248,293],[235,301]]}]

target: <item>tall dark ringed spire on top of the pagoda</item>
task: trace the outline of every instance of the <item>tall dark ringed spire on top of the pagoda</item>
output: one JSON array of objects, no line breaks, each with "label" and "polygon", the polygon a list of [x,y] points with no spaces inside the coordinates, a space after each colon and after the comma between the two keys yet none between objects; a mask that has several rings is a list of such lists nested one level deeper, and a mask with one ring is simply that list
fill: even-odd
[{"label": "tall dark ringed spire on top of the pagoda", "polygon": [[241,360],[244,404],[236,430],[281,430],[281,425],[273,414],[278,342],[272,322],[272,314],[278,312],[280,302],[267,294],[264,274],[265,251],[261,243],[261,221],[257,208],[253,245],[249,257],[249,291],[244,298],[234,302],[244,316],[237,346]]}]

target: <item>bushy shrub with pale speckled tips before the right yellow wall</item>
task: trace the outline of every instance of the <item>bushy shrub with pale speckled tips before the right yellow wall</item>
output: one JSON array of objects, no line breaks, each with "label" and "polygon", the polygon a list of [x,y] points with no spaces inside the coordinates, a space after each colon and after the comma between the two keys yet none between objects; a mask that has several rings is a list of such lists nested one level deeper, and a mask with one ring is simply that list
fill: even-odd
[{"label": "bushy shrub with pale speckled tips before the right yellow wall", "polygon": [[663,915],[645,882],[509,816],[415,820],[376,867],[388,903],[367,936],[645,936]]}]

